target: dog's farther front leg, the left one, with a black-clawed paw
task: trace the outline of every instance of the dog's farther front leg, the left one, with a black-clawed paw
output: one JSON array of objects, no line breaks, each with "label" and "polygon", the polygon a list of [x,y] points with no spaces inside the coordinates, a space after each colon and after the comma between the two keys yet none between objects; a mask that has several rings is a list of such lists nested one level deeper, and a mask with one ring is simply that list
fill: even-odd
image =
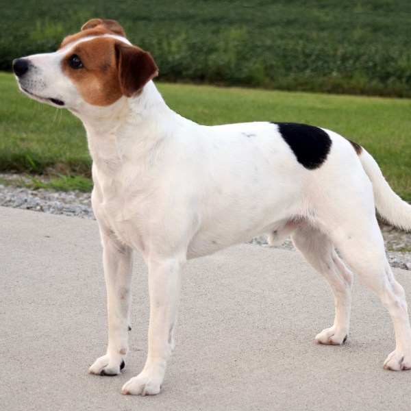
[{"label": "dog's farther front leg, the left one, with a black-clawed paw", "polygon": [[103,233],[103,266],[107,288],[108,349],[97,358],[88,373],[117,375],[125,363],[128,349],[129,310],[131,304],[132,249]]}]

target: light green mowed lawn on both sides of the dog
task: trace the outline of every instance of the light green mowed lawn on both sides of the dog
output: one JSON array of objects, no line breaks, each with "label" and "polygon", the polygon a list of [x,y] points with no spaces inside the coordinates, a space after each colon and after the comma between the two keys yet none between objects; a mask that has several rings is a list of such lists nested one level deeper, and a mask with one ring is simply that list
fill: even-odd
[{"label": "light green mowed lawn on both sides of the dog", "polygon": [[[219,88],[157,82],[166,103],[205,125],[287,121],[332,129],[364,146],[411,201],[411,100]],[[25,97],[0,73],[0,171],[90,175],[82,123]]]}]

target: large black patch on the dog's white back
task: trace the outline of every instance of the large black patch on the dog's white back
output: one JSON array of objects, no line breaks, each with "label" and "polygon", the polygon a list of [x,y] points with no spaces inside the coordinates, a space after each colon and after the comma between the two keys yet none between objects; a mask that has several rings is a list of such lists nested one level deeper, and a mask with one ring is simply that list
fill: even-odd
[{"label": "large black patch on the dog's white back", "polygon": [[327,159],[332,140],[321,128],[299,123],[273,123],[290,146],[297,161],[306,169],[321,167]]}]

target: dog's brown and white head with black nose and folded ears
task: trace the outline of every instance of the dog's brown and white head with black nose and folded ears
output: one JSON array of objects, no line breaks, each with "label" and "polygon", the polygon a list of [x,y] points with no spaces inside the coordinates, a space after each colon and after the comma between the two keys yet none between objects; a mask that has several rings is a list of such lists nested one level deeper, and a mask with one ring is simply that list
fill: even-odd
[{"label": "dog's brown and white head with black nose and folded ears", "polygon": [[102,107],[134,97],[158,75],[151,55],[131,45],[119,23],[99,18],[54,53],[14,60],[13,70],[29,97],[73,112],[85,103]]}]

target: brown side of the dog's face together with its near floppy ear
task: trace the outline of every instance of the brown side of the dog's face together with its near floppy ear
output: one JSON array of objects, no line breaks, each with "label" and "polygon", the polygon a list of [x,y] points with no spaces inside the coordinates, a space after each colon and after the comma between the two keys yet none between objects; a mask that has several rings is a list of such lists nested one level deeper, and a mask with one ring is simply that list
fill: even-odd
[{"label": "brown side of the dog's face together with its near floppy ear", "polygon": [[[81,60],[81,68],[70,65],[73,55]],[[62,59],[62,71],[75,83],[84,101],[100,106],[110,105],[123,95],[138,95],[158,75],[149,53],[108,37],[79,42]]]}]

